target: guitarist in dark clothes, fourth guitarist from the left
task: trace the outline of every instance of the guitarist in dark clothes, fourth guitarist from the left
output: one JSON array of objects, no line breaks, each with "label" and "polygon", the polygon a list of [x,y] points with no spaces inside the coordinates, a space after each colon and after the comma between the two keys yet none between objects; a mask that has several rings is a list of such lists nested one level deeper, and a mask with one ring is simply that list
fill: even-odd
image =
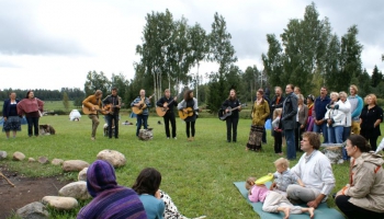
[{"label": "guitarist in dark clothes, fourth guitarist from the left", "polygon": [[167,139],[170,138],[170,132],[169,132],[169,122],[171,122],[171,126],[172,126],[172,138],[177,139],[176,137],[176,118],[174,118],[174,112],[173,112],[173,106],[178,105],[177,102],[178,97],[171,96],[171,92],[169,89],[165,90],[165,96],[162,96],[157,103],[156,105],[158,107],[163,107],[166,112],[166,114],[163,115],[163,123],[166,124],[166,135],[167,135]]}]

